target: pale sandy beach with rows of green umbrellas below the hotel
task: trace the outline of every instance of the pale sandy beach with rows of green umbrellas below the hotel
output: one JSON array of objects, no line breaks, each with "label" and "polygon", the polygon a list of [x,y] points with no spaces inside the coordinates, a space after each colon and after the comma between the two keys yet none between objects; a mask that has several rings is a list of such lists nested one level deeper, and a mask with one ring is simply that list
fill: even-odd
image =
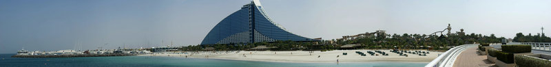
[{"label": "pale sandy beach with rows of green umbrellas below the hotel", "polygon": [[[165,57],[189,57],[189,58],[209,58],[209,59],[237,59],[249,61],[267,61],[267,62],[430,62],[442,52],[428,51],[426,56],[414,55],[411,53],[406,56],[400,56],[397,53],[391,53],[391,50],[378,50],[388,53],[388,55],[369,55],[361,56],[355,51],[366,53],[366,51],[375,50],[335,50],[335,51],[197,51],[197,52],[167,52],[138,56],[165,56]],[[410,50],[426,51],[426,50]],[[311,53],[312,52],[312,53]],[[184,54],[187,53],[187,54]],[[291,54],[292,53],[292,54]],[[342,53],[348,53],[343,55]],[[337,57],[338,55],[338,57]],[[208,56],[208,57],[207,57]],[[319,57],[318,57],[319,56]]]}]

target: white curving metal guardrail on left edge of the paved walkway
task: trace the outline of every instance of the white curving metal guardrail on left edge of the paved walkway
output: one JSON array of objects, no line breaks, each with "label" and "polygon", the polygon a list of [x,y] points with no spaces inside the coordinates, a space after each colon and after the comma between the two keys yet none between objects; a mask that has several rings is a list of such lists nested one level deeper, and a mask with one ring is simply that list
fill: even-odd
[{"label": "white curving metal guardrail on left edge of the paved walkway", "polygon": [[455,59],[457,59],[457,56],[461,52],[463,52],[465,49],[468,49],[472,46],[477,46],[478,44],[463,44],[460,46],[455,46],[452,49],[442,53],[436,59],[434,59],[432,62],[426,64],[425,67],[451,67],[453,66],[453,63],[455,63]]}]

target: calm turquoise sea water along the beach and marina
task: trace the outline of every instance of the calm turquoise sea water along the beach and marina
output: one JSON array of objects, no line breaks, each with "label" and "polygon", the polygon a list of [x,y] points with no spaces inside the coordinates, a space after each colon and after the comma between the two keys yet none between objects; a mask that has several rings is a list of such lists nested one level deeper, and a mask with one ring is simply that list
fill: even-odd
[{"label": "calm turquoise sea water along the beach and marina", "polygon": [[185,57],[51,57],[51,58],[19,58],[10,57],[14,54],[0,54],[0,67],[11,66],[51,66],[51,67],[422,67],[428,63],[415,62],[340,62],[340,63],[291,63],[291,62],[258,62],[229,59],[204,59]]}]

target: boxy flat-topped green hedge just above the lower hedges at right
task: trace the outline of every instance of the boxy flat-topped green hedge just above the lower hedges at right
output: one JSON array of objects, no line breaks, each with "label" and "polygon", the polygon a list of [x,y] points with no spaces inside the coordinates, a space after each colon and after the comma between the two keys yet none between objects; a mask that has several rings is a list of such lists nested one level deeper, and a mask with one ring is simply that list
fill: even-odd
[{"label": "boxy flat-topped green hedge just above the lower hedges at right", "polygon": [[501,45],[501,50],[510,53],[530,53],[532,52],[532,46],[527,44],[506,44]]}]

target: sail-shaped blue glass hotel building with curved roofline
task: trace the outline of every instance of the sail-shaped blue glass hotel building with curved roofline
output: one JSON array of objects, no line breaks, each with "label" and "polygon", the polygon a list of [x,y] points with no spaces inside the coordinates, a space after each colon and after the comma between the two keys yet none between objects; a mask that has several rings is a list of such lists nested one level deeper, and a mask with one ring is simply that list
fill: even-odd
[{"label": "sail-shaped blue glass hotel building with curved roofline", "polygon": [[243,5],[218,23],[201,44],[238,44],[249,42],[275,42],[276,40],[319,41],[304,38],[273,23],[262,9],[260,1],[253,0]]}]

